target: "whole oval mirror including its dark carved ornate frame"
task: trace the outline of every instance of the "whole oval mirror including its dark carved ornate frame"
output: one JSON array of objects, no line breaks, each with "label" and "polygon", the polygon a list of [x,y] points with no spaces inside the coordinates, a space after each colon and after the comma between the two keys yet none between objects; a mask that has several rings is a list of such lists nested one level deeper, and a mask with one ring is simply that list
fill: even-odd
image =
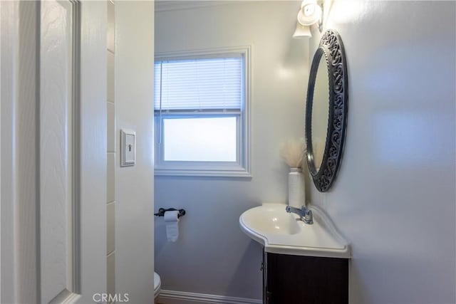
[{"label": "whole oval mirror including its dark carved ornate frame", "polygon": [[348,110],[348,76],[341,36],[323,33],[311,65],[306,101],[309,172],[319,192],[336,179],[343,151]]}]

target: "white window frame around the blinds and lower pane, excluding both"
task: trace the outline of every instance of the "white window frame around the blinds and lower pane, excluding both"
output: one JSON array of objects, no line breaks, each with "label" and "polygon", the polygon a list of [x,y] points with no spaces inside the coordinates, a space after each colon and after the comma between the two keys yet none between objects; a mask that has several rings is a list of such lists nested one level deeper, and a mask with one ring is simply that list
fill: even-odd
[{"label": "white window frame around the blinds and lower pane, excluding both", "polygon": [[[250,87],[251,87],[251,47],[212,48],[196,51],[155,53],[155,61],[221,58],[223,56],[242,56],[244,58],[244,91],[240,110],[203,110],[203,111],[162,111],[154,110],[155,150],[154,174],[157,176],[195,176],[195,177],[252,177],[250,162]],[[237,117],[237,161],[236,162],[177,162],[164,160],[164,145],[160,144],[163,121],[179,117]]]}]

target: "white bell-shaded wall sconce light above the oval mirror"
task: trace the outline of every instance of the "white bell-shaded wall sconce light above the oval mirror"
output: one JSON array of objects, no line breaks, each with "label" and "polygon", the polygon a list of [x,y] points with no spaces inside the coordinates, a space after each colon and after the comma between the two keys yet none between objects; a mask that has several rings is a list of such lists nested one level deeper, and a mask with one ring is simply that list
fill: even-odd
[{"label": "white bell-shaded wall sconce light above the oval mirror", "polygon": [[323,30],[323,10],[317,0],[304,0],[298,13],[298,22],[293,38],[309,38],[312,36],[310,27],[318,23],[318,31]]}]

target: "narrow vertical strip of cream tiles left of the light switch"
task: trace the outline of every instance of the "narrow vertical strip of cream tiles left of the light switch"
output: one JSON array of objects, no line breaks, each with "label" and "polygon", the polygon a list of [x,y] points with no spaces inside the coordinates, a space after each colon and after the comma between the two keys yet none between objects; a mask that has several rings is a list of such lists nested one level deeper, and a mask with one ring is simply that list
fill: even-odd
[{"label": "narrow vertical strip of cream tiles left of the light switch", "polygon": [[115,5],[113,1],[108,0],[108,28],[107,28],[107,52],[108,52],[108,100],[107,100],[107,114],[108,114],[108,140],[106,151],[108,152],[108,165],[107,165],[107,203],[106,216],[107,216],[107,266],[106,266],[106,285],[107,292],[111,295],[115,294],[115,103],[114,103],[114,51],[115,51]]}]

